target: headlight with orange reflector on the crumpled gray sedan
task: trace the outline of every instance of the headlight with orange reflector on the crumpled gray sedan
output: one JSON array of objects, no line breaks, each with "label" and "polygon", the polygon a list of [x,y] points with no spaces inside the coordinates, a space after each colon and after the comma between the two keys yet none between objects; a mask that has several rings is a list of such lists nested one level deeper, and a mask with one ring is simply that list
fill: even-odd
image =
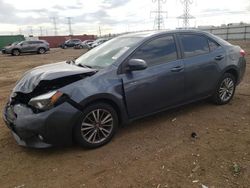
[{"label": "headlight with orange reflector on the crumpled gray sedan", "polygon": [[60,91],[51,91],[30,99],[29,105],[42,111],[49,110],[62,96],[63,93]]}]

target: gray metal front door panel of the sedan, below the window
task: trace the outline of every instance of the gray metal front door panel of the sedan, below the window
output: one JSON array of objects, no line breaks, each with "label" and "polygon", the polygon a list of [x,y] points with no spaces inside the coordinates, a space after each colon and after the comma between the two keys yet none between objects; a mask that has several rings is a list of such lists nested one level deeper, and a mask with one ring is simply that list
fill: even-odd
[{"label": "gray metal front door panel of the sedan, below the window", "polygon": [[184,74],[172,72],[183,67],[182,60],[148,67],[122,75],[130,118],[150,114],[183,101]]}]

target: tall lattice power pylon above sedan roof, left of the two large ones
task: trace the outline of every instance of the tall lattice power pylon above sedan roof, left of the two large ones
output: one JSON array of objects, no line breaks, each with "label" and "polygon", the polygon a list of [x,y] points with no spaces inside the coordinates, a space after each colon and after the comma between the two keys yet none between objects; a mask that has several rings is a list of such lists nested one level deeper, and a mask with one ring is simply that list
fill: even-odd
[{"label": "tall lattice power pylon above sedan roof, left of the two large ones", "polygon": [[156,14],[155,15],[155,21],[154,21],[154,28],[157,25],[157,29],[163,29],[164,26],[164,16],[163,14],[167,15],[167,11],[162,10],[162,4],[166,3],[166,0],[152,0],[153,3],[157,2],[157,11],[151,11],[150,14]]}]

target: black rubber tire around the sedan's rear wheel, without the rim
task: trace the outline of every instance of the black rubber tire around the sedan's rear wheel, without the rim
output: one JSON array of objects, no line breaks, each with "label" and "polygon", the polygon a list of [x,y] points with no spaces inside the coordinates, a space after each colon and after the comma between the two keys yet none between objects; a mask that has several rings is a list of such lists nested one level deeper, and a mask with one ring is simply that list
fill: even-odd
[{"label": "black rubber tire around the sedan's rear wheel, without the rim", "polygon": [[[230,78],[231,80],[233,80],[233,82],[234,82],[234,90],[233,90],[232,96],[227,101],[222,101],[221,98],[220,98],[219,89],[220,89],[220,86],[221,86],[222,82],[226,78]],[[225,73],[223,75],[223,77],[221,78],[221,80],[220,80],[220,82],[219,82],[219,84],[218,84],[218,86],[216,88],[215,94],[213,95],[213,98],[212,98],[213,102],[215,104],[218,104],[218,105],[223,105],[223,104],[229,103],[232,100],[232,98],[234,97],[235,89],[236,89],[236,79],[235,79],[234,75],[232,75],[230,73]]]}]

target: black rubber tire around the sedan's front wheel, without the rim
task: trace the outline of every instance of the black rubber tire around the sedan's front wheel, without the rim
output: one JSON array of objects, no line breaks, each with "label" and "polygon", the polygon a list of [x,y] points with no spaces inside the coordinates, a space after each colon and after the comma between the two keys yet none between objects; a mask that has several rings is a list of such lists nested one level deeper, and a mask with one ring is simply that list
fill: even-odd
[{"label": "black rubber tire around the sedan's front wheel, without the rim", "polygon": [[[92,144],[92,143],[89,143],[86,140],[84,140],[84,138],[82,137],[81,124],[82,124],[82,121],[85,118],[85,116],[89,112],[91,112],[95,109],[105,109],[105,110],[109,111],[113,117],[114,123],[113,123],[112,132],[108,136],[108,138],[106,138],[103,142],[100,142],[97,144]],[[115,133],[117,131],[117,128],[118,128],[118,116],[117,116],[117,113],[114,110],[114,108],[111,105],[106,104],[106,103],[95,103],[95,104],[87,106],[85,108],[85,110],[83,111],[83,114],[79,118],[77,125],[73,129],[73,137],[74,137],[75,142],[84,148],[89,148],[89,149],[98,148],[100,146],[107,144],[113,138],[113,136],[115,135]]]}]

